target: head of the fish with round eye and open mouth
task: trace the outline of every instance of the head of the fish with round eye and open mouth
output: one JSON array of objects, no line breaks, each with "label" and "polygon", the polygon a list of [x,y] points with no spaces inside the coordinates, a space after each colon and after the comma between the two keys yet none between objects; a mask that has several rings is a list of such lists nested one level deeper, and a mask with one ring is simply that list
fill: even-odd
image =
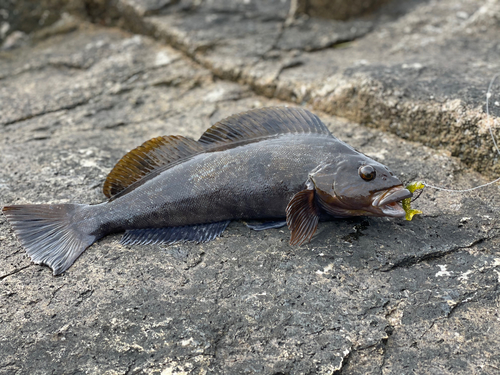
[{"label": "head of the fish with round eye and open mouth", "polygon": [[362,154],[320,165],[309,183],[320,206],[335,217],[404,217],[400,202],[412,196],[388,167]]}]

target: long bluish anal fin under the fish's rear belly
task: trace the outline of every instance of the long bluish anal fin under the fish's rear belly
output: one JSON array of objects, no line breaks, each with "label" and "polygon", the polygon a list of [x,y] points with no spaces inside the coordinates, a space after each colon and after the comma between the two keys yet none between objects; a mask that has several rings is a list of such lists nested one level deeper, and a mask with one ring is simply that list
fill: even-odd
[{"label": "long bluish anal fin under the fish's rear belly", "polygon": [[173,244],[193,241],[211,241],[224,232],[230,220],[217,223],[186,225],[182,227],[147,228],[127,230],[122,237],[123,245]]}]

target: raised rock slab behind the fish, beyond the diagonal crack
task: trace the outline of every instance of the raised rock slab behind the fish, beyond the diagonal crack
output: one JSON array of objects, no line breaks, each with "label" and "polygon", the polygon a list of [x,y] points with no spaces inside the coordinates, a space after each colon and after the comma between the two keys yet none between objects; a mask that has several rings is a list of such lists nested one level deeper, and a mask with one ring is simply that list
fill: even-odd
[{"label": "raised rock slab behind the fish, beyond the diagonal crack", "polygon": [[[393,1],[362,19],[291,23],[288,1],[186,0],[146,17],[133,4],[117,0],[127,27],[219,77],[500,174],[484,113],[488,83],[500,72],[497,0]],[[492,113],[498,127],[500,105]]]}]

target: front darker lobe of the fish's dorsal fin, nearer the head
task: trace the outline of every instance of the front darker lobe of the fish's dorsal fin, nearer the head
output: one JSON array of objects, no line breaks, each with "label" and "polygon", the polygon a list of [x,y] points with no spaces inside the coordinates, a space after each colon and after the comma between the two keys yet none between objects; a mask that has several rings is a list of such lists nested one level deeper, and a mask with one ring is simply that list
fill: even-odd
[{"label": "front darker lobe of the fish's dorsal fin, nearer the head", "polygon": [[221,120],[203,133],[198,142],[231,143],[286,133],[331,135],[318,116],[303,108],[268,107]]}]

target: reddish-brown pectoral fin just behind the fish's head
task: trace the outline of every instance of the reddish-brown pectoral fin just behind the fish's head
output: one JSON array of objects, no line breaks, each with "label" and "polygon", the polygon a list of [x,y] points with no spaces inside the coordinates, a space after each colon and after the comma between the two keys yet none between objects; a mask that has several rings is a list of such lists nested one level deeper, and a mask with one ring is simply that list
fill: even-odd
[{"label": "reddish-brown pectoral fin just behind the fish's head", "polygon": [[286,222],[291,232],[290,245],[302,245],[311,240],[319,221],[315,191],[302,190],[286,207]]}]

